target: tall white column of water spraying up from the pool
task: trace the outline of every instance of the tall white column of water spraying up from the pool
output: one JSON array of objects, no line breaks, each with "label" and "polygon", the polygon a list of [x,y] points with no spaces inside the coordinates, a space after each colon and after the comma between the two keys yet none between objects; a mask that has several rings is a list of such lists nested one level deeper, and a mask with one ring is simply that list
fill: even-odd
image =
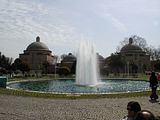
[{"label": "tall white column of water spraying up from the pool", "polygon": [[77,53],[76,84],[95,86],[98,84],[97,54],[95,45],[81,41]]}]

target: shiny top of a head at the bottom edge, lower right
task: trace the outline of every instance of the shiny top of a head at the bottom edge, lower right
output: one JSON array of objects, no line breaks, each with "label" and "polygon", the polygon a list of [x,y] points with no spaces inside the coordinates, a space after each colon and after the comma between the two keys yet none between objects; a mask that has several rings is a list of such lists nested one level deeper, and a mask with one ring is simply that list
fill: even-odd
[{"label": "shiny top of a head at the bottom edge, lower right", "polygon": [[156,120],[155,116],[149,110],[141,110],[137,113],[134,120]]}]

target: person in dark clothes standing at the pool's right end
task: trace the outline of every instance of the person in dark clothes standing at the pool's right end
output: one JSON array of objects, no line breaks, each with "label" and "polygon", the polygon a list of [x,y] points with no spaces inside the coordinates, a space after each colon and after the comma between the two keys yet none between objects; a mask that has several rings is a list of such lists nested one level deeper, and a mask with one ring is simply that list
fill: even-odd
[{"label": "person in dark clothes standing at the pool's right end", "polygon": [[151,73],[150,79],[149,79],[150,87],[152,89],[152,93],[150,95],[151,100],[156,100],[158,99],[158,95],[156,93],[157,87],[158,87],[158,80],[155,75],[155,72]]}]

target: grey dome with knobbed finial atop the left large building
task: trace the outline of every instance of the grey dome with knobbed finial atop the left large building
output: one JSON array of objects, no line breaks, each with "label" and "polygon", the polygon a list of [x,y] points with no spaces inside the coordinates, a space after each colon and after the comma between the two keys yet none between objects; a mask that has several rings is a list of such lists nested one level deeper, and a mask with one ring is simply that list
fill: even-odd
[{"label": "grey dome with knobbed finial atop the left large building", "polygon": [[36,38],[36,42],[31,43],[28,47],[27,50],[31,51],[31,50],[49,50],[48,47],[40,42],[40,37],[38,36]]}]

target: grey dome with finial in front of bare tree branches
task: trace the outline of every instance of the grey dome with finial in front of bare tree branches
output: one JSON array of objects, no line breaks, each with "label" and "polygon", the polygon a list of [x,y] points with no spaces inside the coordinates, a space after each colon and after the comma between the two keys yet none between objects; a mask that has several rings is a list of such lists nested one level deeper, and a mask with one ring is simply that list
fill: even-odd
[{"label": "grey dome with finial in front of bare tree branches", "polygon": [[121,52],[142,52],[142,49],[137,46],[137,45],[133,45],[133,40],[132,38],[129,39],[129,44],[125,45],[124,47],[122,47]]}]

